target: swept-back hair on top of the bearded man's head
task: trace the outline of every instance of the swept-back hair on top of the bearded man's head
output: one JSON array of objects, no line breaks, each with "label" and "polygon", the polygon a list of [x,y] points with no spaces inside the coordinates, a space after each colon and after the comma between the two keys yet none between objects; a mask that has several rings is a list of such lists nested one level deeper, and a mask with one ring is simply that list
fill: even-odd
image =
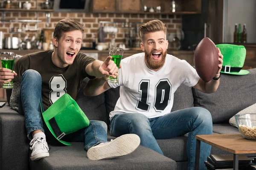
[{"label": "swept-back hair on top of the bearded man's head", "polygon": [[156,31],[164,31],[164,34],[166,34],[166,25],[160,21],[160,20],[151,20],[148,21],[148,23],[145,23],[140,26],[139,33],[140,33],[140,39],[143,42],[144,35],[149,32],[156,32]]}]

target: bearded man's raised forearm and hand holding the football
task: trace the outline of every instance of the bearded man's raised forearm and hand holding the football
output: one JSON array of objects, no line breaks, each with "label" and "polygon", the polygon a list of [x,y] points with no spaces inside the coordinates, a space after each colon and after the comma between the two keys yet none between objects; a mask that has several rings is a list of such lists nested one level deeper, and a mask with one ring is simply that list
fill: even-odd
[{"label": "bearded man's raised forearm and hand holding the football", "polygon": [[[222,63],[223,63],[223,55],[221,54],[220,49],[218,48],[218,55],[219,55],[219,64],[218,64],[218,71],[215,74],[215,78],[220,77],[220,72],[221,72],[221,68],[222,68]],[[220,79],[218,80],[214,80],[212,79],[209,82],[204,82],[201,78],[199,79],[198,83],[194,86],[194,88],[204,92],[204,93],[213,93],[217,90],[218,86],[220,84]]]}]

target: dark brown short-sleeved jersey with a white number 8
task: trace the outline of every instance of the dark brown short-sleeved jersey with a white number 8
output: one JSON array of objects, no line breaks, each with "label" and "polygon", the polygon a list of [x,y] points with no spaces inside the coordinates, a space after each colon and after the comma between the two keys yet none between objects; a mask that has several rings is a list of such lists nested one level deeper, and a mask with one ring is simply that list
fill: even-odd
[{"label": "dark brown short-sleeved jersey with a white number 8", "polygon": [[23,72],[28,69],[35,70],[41,75],[44,110],[49,108],[63,94],[67,93],[73,99],[76,99],[83,79],[85,77],[94,78],[85,71],[85,67],[95,60],[92,57],[87,57],[79,52],[72,65],[58,68],[52,62],[52,52],[52,50],[49,50],[27,54],[15,61],[14,66],[17,73],[17,76],[13,79],[14,82],[21,82]]}]

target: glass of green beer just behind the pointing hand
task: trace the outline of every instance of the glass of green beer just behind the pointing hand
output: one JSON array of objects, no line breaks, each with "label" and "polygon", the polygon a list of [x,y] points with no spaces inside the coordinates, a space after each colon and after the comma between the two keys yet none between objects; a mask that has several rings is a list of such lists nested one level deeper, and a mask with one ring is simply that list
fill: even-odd
[{"label": "glass of green beer just behind the pointing hand", "polygon": [[[115,62],[118,68],[119,68],[123,53],[124,53],[123,48],[118,48],[118,47],[109,48],[109,55],[112,57],[111,60]],[[108,77],[108,82],[118,83],[118,78]]]}]

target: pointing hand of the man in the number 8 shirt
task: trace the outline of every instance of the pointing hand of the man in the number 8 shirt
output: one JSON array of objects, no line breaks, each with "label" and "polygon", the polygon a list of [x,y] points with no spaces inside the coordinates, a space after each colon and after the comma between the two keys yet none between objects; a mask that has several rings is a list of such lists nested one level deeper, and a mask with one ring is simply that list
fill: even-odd
[{"label": "pointing hand of the man in the number 8 shirt", "polygon": [[[111,59],[112,57],[108,56],[105,61],[100,65],[99,72],[102,74],[102,77],[111,76],[113,78],[116,78],[116,76],[118,76],[118,67]],[[121,65],[119,65],[119,68],[121,68]]]}]

